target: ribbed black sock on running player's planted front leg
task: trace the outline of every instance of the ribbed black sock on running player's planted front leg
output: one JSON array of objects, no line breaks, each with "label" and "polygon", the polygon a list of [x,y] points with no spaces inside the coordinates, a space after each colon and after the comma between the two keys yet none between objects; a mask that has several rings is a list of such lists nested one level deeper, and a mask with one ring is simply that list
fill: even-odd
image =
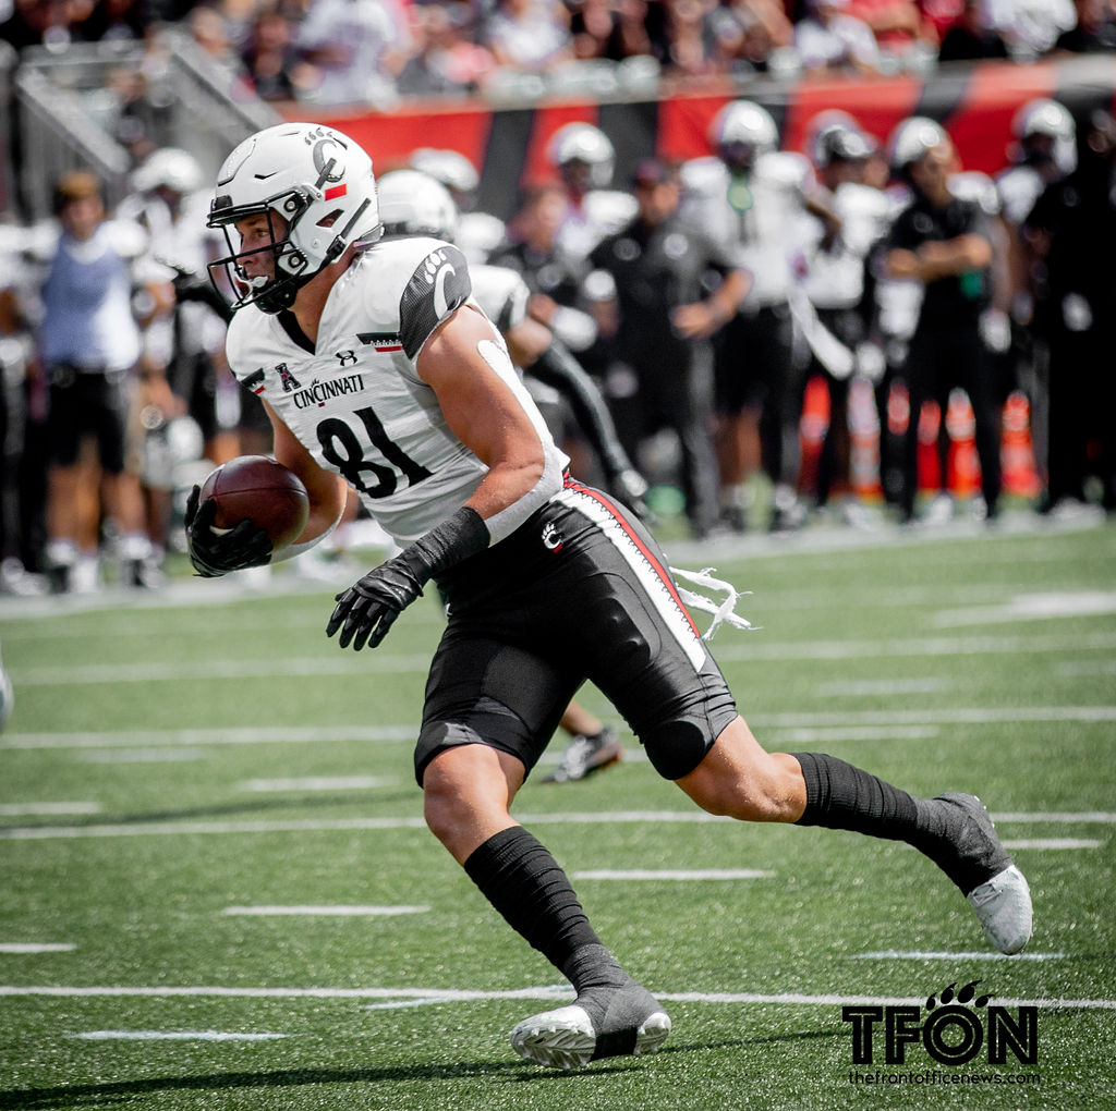
[{"label": "ribbed black sock on running player's planted front leg", "polygon": [[566,873],[522,825],[490,837],[464,868],[508,925],[556,968],[584,946],[600,945]]}]

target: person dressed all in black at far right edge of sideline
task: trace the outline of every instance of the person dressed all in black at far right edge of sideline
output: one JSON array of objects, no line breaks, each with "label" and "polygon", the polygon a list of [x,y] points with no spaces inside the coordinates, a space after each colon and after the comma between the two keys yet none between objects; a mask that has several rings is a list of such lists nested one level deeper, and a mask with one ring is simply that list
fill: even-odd
[{"label": "person dressed all in black at far right edge of sideline", "polygon": [[1023,230],[1045,264],[1050,412],[1048,479],[1041,508],[1070,510],[1099,481],[1116,510],[1116,119],[1089,118],[1077,168],[1049,185]]}]

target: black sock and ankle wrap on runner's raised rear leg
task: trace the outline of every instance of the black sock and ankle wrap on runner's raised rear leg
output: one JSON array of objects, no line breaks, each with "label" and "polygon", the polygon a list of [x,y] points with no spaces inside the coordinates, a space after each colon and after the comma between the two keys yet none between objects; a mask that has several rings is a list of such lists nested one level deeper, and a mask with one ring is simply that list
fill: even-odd
[{"label": "black sock and ankle wrap on runner's raised rear leg", "polygon": [[[918,799],[844,760],[816,752],[792,754],[806,780],[799,825],[854,830],[905,841],[934,861],[963,895],[1009,867],[1011,858],[972,795]],[[970,843],[971,842],[971,843]]]}]

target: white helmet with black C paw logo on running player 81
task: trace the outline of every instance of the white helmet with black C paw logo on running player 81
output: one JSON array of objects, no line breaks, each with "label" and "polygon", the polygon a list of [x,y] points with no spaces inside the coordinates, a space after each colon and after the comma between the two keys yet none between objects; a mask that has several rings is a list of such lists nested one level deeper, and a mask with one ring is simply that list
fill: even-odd
[{"label": "white helmet with black C paw logo on running player 81", "polygon": [[[275,255],[275,277],[249,279],[235,224],[261,213],[271,224],[271,245],[260,250]],[[211,263],[210,273],[228,276],[237,296],[231,308],[256,305],[263,312],[281,312],[347,247],[381,234],[372,160],[347,135],[323,124],[268,127],[225,158],[208,223],[220,228],[229,243],[230,253]]]}]

